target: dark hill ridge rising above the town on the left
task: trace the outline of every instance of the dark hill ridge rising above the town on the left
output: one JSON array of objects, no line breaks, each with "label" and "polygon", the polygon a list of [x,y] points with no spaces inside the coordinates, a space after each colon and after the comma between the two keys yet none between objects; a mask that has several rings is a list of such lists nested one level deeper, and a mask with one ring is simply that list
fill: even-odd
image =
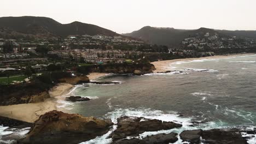
[{"label": "dark hill ridge rising above the town on the left", "polygon": [[46,37],[61,37],[66,35],[119,35],[108,29],[90,25],[82,22],[72,22],[68,24],[61,24],[48,17],[0,17],[0,34],[7,35],[37,35]]}]

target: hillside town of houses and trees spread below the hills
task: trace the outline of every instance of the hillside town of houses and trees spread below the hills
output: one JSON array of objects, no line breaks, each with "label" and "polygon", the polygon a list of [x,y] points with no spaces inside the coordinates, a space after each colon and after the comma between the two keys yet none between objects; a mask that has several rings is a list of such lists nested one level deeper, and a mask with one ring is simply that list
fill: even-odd
[{"label": "hillside town of houses and trees spread below the hills", "polygon": [[[73,71],[86,65],[131,64],[214,56],[226,51],[246,52],[255,46],[252,39],[226,38],[210,32],[184,39],[180,49],[150,45],[121,35],[69,35],[56,39],[0,38],[0,77],[8,77],[8,80],[0,78],[0,81],[2,84],[26,82],[25,77],[33,74],[54,70]],[[14,77],[14,80],[9,80],[9,77]]]}]

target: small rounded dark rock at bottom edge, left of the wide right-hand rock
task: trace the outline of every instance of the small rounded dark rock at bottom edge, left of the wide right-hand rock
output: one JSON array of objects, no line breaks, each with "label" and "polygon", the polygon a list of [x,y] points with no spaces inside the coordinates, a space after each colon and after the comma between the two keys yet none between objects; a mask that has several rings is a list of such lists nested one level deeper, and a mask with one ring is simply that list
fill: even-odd
[{"label": "small rounded dark rock at bottom edge, left of the wide right-hand rock", "polygon": [[202,130],[185,130],[182,131],[181,134],[179,134],[179,136],[181,136],[181,139],[183,141],[189,141],[192,143],[200,143],[200,137],[202,134]]}]

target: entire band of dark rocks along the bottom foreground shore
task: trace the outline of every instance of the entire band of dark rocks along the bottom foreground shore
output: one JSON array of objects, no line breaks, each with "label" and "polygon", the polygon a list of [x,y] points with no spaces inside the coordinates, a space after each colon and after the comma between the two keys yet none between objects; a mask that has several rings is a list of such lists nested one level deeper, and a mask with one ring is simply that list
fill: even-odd
[{"label": "entire band of dark rocks along the bottom foreground shore", "polygon": [[[0,124],[11,125],[13,128],[31,127],[30,131],[21,137],[6,135],[4,140],[11,140],[12,143],[80,143],[95,139],[97,136],[107,134],[113,129],[114,123],[110,119],[98,119],[84,117],[79,114],[68,114],[61,111],[50,111],[40,116],[33,124],[16,121],[14,119],[0,117]],[[174,122],[164,122],[158,119],[147,119],[144,117],[118,118],[116,129],[109,135],[112,144],[162,144],[174,143],[179,139],[183,143],[247,143],[256,134],[256,129],[210,129],[210,130],[184,130],[182,133],[159,133],[139,137],[146,131],[159,131],[182,128],[183,125]],[[244,136],[252,134],[251,137]]]}]

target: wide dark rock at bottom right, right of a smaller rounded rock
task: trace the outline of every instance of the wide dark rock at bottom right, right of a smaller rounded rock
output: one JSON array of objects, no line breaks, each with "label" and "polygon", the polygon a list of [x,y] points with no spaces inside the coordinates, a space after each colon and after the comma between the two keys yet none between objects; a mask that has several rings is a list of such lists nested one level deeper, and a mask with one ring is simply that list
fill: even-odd
[{"label": "wide dark rock at bottom right, right of a smaller rounded rock", "polygon": [[205,143],[210,144],[242,144],[247,143],[243,139],[240,130],[231,129],[211,129],[205,130],[202,132],[202,139],[205,140]]}]

